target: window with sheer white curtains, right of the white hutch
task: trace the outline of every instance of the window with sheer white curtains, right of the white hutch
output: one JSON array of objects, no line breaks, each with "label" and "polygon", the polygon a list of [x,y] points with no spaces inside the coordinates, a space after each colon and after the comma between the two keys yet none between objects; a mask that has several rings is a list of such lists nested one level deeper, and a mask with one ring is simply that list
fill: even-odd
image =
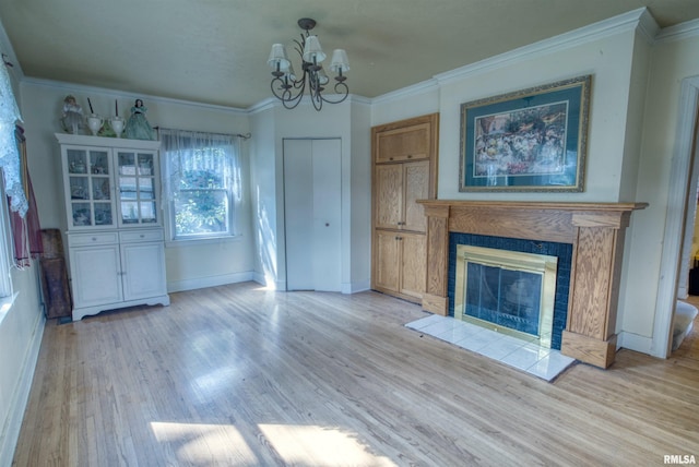
[{"label": "window with sheer white curtains, right of the white hutch", "polygon": [[169,237],[235,235],[240,200],[238,141],[234,135],[159,130]]}]

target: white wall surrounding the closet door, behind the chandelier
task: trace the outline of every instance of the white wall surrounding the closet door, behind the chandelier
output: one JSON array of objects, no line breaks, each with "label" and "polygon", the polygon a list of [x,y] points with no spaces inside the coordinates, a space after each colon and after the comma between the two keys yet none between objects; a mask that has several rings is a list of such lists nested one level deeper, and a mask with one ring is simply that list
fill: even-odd
[{"label": "white wall surrounding the closet door, behind the chandelier", "polygon": [[[293,117],[293,118],[289,118]],[[370,144],[369,107],[360,98],[339,105],[325,105],[322,112],[309,103],[296,109],[277,103],[251,115],[253,132],[265,134],[254,141],[251,180],[253,211],[260,230],[256,249],[256,277],[276,289],[286,289],[286,250],[284,242],[284,139],[339,137],[342,151],[342,290],[364,290],[370,274]],[[262,280],[261,280],[262,282]]]}]

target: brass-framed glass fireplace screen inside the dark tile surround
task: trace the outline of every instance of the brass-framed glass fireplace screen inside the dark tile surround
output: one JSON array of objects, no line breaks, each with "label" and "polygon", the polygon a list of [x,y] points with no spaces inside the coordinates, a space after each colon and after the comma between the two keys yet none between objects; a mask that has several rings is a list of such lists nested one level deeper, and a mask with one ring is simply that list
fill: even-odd
[{"label": "brass-framed glass fireplace screen inside the dark tile surround", "polygon": [[558,259],[457,248],[454,318],[550,347]]}]

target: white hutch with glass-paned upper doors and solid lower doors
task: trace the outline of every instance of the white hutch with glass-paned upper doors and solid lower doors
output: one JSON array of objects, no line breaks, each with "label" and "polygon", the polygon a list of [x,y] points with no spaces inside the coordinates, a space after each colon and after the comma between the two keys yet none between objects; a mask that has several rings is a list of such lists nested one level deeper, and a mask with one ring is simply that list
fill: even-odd
[{"label": "white hutch with glass-paned upper doors and solid lower doors", "polygon": [[169,304],[157,141],[57,134],[73,320]]}]

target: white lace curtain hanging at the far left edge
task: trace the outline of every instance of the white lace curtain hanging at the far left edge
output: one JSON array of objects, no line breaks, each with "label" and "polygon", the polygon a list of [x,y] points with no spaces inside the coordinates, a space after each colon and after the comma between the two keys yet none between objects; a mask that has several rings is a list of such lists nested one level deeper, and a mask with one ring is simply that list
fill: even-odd
[{"label": "white lace curtain hanging at the far left edge", "polygon": [[10,196],[10,208],[21,217],[26,215],[28,203],[22,189],[20,151],[14,137],[15,123],[22,121],[12,83],[4,63],[0,62],[0,168],[4,177],[4,190]]}]

